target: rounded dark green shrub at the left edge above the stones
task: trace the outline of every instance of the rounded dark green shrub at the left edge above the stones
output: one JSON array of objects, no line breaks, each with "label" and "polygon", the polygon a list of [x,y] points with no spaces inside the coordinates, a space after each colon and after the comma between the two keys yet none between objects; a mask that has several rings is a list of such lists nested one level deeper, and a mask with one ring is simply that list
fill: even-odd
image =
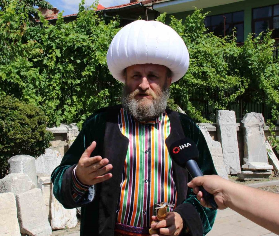
[{"label": "rounded dark green shrub at the left edge above the stones", "polygon": [[7,174],[7,160],[24,154],[38,157],[53,139],[43,111],[11,96],[0,100],[0,179]]}]

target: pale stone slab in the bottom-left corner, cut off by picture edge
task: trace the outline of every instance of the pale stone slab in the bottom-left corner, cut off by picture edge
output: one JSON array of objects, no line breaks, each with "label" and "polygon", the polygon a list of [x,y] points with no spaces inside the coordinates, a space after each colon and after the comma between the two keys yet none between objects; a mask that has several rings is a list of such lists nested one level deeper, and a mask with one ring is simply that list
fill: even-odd
[{"label": "pale stone slab in the bottom-left corner, cut off by picture edge", "polygon": [[0,235],[21,235],[16,214],[15,195],[13,193],[0,194]]}]

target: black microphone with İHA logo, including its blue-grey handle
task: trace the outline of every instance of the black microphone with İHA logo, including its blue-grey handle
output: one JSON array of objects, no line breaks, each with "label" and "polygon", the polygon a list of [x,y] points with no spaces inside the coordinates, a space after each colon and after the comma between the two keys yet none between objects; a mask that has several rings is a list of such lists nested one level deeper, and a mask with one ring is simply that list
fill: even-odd
[{"label": "black microphone with \u0130HA logo, including its blue-grey handle", "polygon": [[[203,176],[197,165],[199,151],[192,139],[186,137],[175,141],[170,145],[169,153],[179,166],[188,170],[192,178]],[[214,200],[214,196],[208,193],[202,186],[199,186],[199,188],[206,202],[210,203],[213,210],[216,210],[218,206]]]}]

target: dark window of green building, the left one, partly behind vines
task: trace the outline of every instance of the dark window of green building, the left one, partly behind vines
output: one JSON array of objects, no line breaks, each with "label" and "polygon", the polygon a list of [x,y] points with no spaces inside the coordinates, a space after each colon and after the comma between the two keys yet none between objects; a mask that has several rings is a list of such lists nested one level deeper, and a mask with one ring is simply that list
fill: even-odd
[{"label": "dark window of green building, the left one, partly behind vines", "polygon": [[[278,9],[279,11],[279,9]],[[216,36],[224,37],[233,35],[233,29],[236,31],[234,37],[237,43],[244,41],[244,11],[237,11],[216,16],[206,16],[205,26],[208,32],[213,32]]]}]

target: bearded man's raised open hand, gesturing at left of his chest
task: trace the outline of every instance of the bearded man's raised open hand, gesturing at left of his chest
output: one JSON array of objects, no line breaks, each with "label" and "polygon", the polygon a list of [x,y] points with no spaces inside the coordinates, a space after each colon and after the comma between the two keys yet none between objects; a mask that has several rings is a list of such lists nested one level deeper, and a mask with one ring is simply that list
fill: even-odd
[{"label": "bearded man's raised open hand, gesturing at left of his chest", "polygon": [[93,185],[112,177],[111,173],[105,174],[113,167],[108,164],[107,158],[102,159],[101,156],[90,157],[95,147],[96,142],[93,141],[78,161],[76,177],[82,184]]}]

